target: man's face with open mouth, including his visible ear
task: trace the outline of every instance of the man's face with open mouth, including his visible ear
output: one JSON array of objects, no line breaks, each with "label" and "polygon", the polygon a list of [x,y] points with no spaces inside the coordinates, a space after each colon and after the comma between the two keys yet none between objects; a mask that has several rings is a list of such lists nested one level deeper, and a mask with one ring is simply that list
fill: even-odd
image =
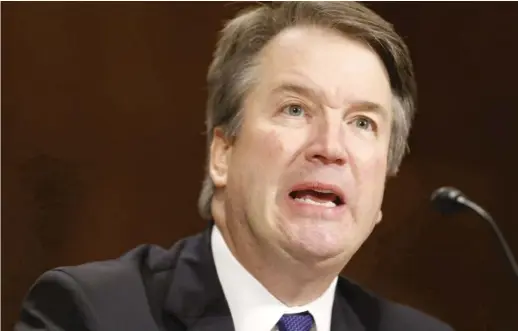
[{"label": "man's face with open mouth, including his visible ear", "polygon": [[216,135],[211,174],[234,243],[348,260],[381,219],[392,94],[379,57],[297,27],[259,56],[237,139]]}]

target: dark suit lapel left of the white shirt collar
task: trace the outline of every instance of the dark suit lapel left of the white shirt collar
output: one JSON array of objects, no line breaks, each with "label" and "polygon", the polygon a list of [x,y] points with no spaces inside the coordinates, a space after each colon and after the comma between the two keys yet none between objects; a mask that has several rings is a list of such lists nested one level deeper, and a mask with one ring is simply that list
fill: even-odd
[{"label": "dark suit lapel left of the white shirt collar", "polygon": [[176,268],[164,310],[188,331],[233,331],[228,303],[214,265],[213,224],[201,234],[179,243]]}]

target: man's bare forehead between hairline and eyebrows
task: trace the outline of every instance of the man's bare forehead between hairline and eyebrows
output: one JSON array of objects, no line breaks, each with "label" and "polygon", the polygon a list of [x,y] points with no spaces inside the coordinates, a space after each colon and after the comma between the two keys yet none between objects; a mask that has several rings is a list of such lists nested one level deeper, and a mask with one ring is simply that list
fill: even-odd
[{"label": "man's bare forehead between hairline and eyebrows", "polygon": [[378,55],[332,30],[294,27],[282,31],[259,55],[258,71],[265,93],[303,84],[333,104],[364,100],[391,108],[390,82]]}]

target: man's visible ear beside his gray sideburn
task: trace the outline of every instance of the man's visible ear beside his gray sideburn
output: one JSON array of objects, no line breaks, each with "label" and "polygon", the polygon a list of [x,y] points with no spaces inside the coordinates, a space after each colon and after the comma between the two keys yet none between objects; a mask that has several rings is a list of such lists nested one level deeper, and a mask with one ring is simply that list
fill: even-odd
[{"label": "man's visible ear beside his gray sideburn", "polygon": [[227,185],[227,173],[231,152],[232,145],[225,137],[223,130],[221,130],[221,128],[215,128],[210,145],[209,173],[216,187],[224,187]]}]

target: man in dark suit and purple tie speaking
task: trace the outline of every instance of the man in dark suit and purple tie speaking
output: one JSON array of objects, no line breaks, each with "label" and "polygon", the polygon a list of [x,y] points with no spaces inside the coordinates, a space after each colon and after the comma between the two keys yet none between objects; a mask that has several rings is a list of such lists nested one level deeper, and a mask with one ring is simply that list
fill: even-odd
[{"label": "man in dark suit and purple tie speaking", "polygon": [[414,113],[389,23],[352,2],[253,8],[223,29],[208,91],[206,231],[45,273],[16,330],[451,330],[339,277]]}]

